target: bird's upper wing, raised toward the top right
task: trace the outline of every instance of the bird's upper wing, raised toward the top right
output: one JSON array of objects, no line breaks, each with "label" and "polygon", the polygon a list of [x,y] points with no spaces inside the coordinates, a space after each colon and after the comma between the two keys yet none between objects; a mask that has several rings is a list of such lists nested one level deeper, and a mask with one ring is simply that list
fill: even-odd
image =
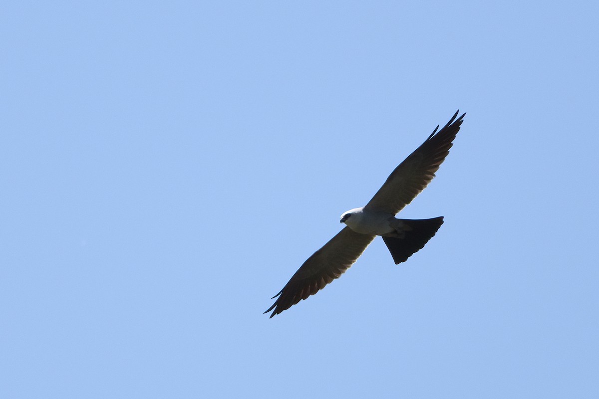
[{"label": "bird's upper wing, raised toward the top right", "polygon": [[389,175],[385,184],[366,204],[364,210],[397,214],[426,188],[449,154],[453,139],[465,114],[456,119],[459,110],[437,134],[437,128],[404,162]]}]

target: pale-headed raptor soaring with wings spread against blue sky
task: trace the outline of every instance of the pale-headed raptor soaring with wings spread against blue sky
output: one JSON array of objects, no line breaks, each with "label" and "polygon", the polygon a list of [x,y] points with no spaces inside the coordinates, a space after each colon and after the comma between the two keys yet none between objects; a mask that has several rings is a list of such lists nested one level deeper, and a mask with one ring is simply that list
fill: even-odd
[{"label": "pale-headed raptor soaring with wings spread against blue sky", "polygon": [[376,236],[383,238],[395,264],[405,262],[422,249],[443,224],[443,217],[411,220],[397,219],[395,215],[426,188],[449,154],[465,115],[456,119],[458,113],[459,110],[439,132],[437,126],[395,168],[370,202],[341,215],[341,223],[346,227],[299,267],[264,313],[274,309],[270,315],[273,317],[322,290],[349,269]]}]

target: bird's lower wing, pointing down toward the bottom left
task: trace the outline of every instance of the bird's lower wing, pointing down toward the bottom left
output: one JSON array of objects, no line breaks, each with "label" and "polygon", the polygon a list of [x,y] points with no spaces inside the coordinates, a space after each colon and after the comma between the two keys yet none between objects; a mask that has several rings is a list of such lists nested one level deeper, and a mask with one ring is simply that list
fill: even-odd
[{"label": "bird's lower wing, pointing down toward the bottom left", "polygon": [[274,309],[270,315],[273,317],[322,290],[352,266],[374,237],[345,227],[299,267],[283,290],[273,297],[278,297],[273,306],[264,313]]}]

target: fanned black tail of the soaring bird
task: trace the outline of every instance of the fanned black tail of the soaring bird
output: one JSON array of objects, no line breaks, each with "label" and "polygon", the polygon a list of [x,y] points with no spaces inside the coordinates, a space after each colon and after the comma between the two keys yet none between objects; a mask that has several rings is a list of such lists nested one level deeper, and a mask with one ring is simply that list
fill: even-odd
[{"label": "fanned black tail of the soaring bird", "polygon": [[407,229],[402,229],[402,238],[383,236],[395,264],[405,262],[414,252],[422,249],[443,224],[443,217],[418,220],[401,219],[401,221],[408,226]]}]

